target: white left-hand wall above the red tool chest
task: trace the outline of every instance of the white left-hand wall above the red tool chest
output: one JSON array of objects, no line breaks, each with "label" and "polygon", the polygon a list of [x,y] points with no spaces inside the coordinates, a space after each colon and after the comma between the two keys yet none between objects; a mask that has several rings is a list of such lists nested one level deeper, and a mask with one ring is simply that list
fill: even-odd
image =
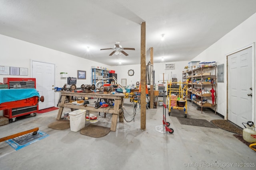
[{"label": "white left-hand wall above the red tool chest", "polygon": [[[0,82],[3,83],[4,77],[30,78],[31,60],[55,64],[55,87],[63,87],[67,83],[66,78],[60,78],[60,72],[68,72],[68,76],[77,77],[77,70],[86,71],[86,80],[77,80],[76,85],[80,87],[82,84],[91,84],[91,66],[110,68],[101,63],[0,35],[0,65],[28,68],[28,76],[0,75]],[[58,100],[57,94],[55,100]]]}]

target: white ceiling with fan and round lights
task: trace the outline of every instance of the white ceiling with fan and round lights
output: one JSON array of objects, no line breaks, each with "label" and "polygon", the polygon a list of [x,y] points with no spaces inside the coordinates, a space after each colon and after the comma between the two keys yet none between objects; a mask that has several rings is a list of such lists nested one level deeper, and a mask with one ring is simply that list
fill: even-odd
[{"label": "white ceiling with fan and round lights", "polygon": [[[145,21],[154,63],[190,61],[255,12],[256,0],[0,0],[0,34],[110,66],[129,65],[140,64]],[[127,57],[100,51],[116,41],[136,50],[124,50]]]}]

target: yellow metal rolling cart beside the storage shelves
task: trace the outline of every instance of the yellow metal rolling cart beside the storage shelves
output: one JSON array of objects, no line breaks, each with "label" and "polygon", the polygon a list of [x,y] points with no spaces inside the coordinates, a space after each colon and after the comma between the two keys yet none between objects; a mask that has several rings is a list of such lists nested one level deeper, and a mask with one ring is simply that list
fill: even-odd
[{"label": "yellow metal rolling cart beside the storage shelves", "polygon": [[169,116],[172,109],[179,109],[184,111],[184,117],[187,117],[187,98],[188,82],[168,82],[169,91]]}]

